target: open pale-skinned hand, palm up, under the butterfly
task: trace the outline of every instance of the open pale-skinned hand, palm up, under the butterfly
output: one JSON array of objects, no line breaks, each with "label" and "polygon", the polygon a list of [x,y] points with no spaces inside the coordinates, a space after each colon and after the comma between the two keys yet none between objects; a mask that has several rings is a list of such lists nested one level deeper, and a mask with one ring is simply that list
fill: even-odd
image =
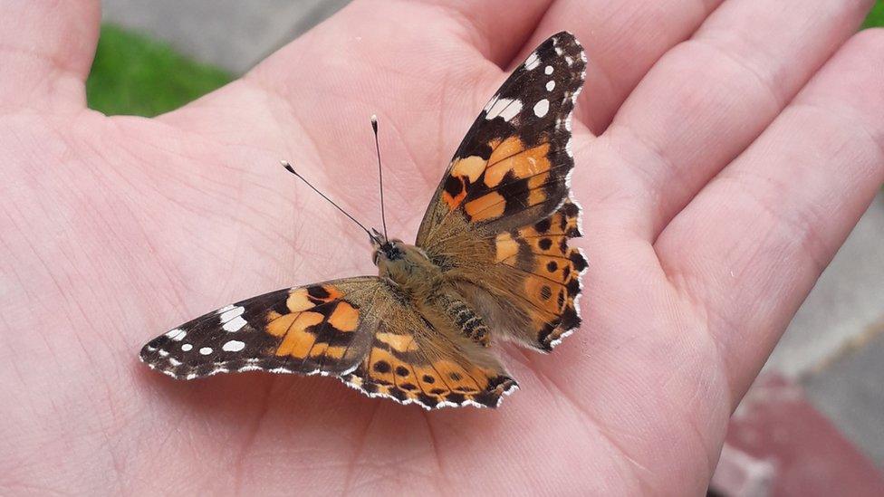
[{"label": "open pale-skinned hand, palm up, under the butterfly", "polygon": [[[704,492],[728,416],[884,178],[865,0],[358,0],[158,119],[85,107],[99,3],[0,0],[0,493]],[[584,45],[584,325],[497,410],[137,359],[230,301],[371,274],[506,72]],[[685,42],[690,39],[691,41]]]}]

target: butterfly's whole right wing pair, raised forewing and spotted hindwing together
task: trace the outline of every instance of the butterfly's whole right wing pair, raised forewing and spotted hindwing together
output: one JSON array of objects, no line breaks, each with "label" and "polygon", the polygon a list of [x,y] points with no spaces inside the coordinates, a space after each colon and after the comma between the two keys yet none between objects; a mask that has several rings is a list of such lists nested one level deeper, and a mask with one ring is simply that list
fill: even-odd
[{"label": "butterfly's whole right wing pair, raised forewing and spotted hindwing together", "polygon": [[493,330],[550,350],[580,324],[586,261],[570,198],[571,114],[585,56],[571,33],[531,53],[457,148],[416,244],[459,282]]}]

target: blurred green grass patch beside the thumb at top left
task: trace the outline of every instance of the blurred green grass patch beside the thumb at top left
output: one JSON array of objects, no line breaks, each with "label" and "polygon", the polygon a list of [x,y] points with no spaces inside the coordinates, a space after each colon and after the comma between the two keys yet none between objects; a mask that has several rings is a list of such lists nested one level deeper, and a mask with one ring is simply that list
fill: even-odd
[{"label": "blurred green grass patch beside the thumb at top left", "polygon": [[105,114],[156,116],[223,86],[233,75],[195,62],[139,33],[105,24],[89,79],[89,107]]}]

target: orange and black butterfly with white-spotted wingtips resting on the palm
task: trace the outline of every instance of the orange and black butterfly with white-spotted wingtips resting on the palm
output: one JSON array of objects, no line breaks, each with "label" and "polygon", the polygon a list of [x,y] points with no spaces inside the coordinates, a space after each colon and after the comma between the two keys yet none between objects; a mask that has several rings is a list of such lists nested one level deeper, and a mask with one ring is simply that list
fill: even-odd
[{"label": "orange and black butterfly with white-spotted wingtips resting on the palm", "polygon": [[150,340],[141,360],[173,378],[321,374],[428,409],[498,406],[517,384],[493,342],[549,352],[581,322],[587,262],[568,246],[581,235],[569,177],[585,67],[562,32],[514,70],[457,148],[415,244],[370,232],[377,276],[235,302]]}]

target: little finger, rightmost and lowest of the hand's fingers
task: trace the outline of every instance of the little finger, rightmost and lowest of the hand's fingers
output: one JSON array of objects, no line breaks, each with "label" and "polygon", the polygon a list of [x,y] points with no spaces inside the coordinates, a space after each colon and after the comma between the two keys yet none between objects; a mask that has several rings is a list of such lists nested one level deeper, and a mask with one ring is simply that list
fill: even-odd
[{"label": "little finger, rightmost and lowest of the hand's fingers", "polygon": [[738,399],[884,180],[884,31],[855,35],[656,244]]}]

